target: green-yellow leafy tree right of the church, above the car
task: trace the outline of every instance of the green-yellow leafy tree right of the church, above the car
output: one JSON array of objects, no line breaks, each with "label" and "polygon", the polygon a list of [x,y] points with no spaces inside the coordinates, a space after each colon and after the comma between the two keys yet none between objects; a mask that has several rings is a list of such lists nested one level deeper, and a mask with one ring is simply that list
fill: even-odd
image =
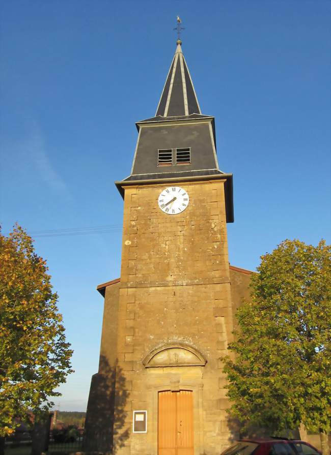
[{"label": "green-yellow leafy tree right of the church, above the car", "polygon": [[251,301],[238,309],[238,332],[224,357],[229,412],[247,430],[293,430],[300,422],[321,435],[331,422],[330,247],[285,240],[261,257]]}]

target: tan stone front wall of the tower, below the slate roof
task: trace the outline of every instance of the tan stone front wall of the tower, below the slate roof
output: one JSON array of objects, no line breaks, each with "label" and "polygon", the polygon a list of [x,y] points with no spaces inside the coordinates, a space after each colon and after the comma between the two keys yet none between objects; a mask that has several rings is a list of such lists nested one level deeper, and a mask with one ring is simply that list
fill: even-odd
[{"label": "tan stone front wall of the tower, below the slate roof", "polygon": [[[194,391],[195,454],[216,455],[229,444],[219,361],[232,336],[224,182],[176,186],[188,192],[190,202],[173,216],[157,205],[164,185],[125,189],[117,348],[121,388],[115,399],[121,426],[114,435],[120,455],[157,453],[157,393],[173,387]],[[174,343],[196,348],[206,366],[145,368],[146,355]],[[145,409],[148,432],[133,434],[132,411]]]}]

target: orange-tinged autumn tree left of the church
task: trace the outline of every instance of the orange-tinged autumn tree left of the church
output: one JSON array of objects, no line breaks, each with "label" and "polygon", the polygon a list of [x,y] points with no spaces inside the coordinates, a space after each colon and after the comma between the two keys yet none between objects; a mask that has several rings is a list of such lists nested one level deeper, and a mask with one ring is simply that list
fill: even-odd
[{"label": "orange-tinged autumn tree left of the church", "polygon": [[32,238],[16,225],[0,232],[0,437],[14,432],[15,419],[49,410],[49,397],[72,372],[58,295]]}]

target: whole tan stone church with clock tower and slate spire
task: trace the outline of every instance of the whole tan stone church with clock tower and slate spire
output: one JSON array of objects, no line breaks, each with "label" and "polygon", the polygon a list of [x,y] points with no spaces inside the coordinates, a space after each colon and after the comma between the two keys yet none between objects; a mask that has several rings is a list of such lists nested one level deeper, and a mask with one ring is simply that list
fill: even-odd
[{"label": "whole tan stone church with clock tower and slate spire", "polygon": [[220,357],[252,272],[229,264],[232,174],[219,170],[214,117],[200,109],[181,45],[155,116],[136,123],[131,174],[115,183],[121,276],[97,287],[85,451],[218,455],[237,436]]}]

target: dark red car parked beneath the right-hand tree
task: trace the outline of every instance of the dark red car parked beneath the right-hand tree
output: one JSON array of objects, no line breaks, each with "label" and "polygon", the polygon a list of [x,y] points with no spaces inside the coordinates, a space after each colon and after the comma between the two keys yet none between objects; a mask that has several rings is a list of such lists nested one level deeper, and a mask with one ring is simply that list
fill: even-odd
[{"label": "dark red car parked beneath the right-hand tree", "polygon": [[308,442],[292,439],[240,439],[220,455],[321,455]]}]

